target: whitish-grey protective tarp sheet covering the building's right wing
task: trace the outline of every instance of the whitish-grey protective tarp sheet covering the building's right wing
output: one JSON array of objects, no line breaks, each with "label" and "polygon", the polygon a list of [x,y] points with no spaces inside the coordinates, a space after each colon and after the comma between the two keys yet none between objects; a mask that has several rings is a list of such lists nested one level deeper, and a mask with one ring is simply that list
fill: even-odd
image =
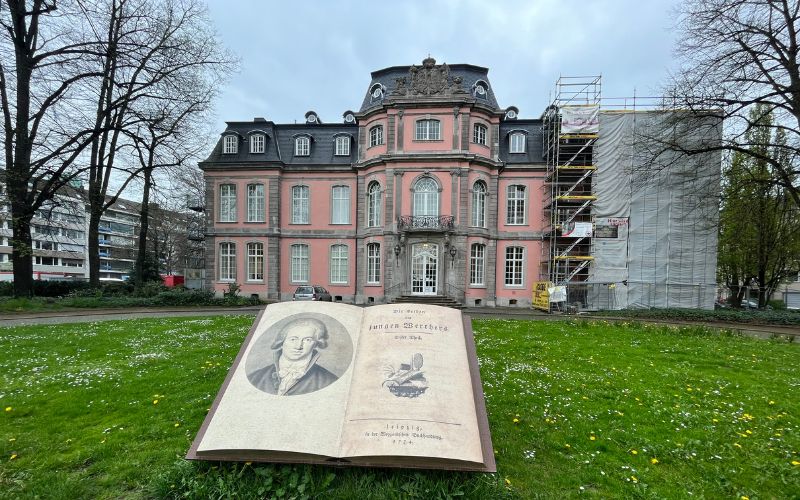
[{"label": "whitish-grey protective tarp sheet covering the building's right wing", "polygon": [[[607,293],[616,308],[714,306],[720,156],[662,154],[654,164],[652,143],[643,145],[643,137],[675,137],[674,117],[600,114],[592,213],[595,221],[628,218],[628,224],[617,238],[592,241],[589,281],[615,286],[590,287],[588,308],[607,307]],[[719,141],[715,125],[680,132],[690,141]]]}]

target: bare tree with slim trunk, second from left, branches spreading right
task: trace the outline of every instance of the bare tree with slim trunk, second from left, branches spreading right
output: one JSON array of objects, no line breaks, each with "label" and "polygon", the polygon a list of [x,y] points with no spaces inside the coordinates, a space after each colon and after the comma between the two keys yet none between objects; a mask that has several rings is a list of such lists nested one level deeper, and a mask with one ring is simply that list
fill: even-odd
[{"label": "bare tree with slim trunk, second from left, branches spreading right", "polygon": [[[117,155],[123,148],[152,142],[152,136],[142,141],[136,135],[149,118],[162,124],[154,131],[163,128],[164,119],[137,112],[138,103],[194,94],[190,85],[198,82],[214,85],[232,68],[232,59],[217,43],[205,8],[195,0],[112,0],[105,10],[86,8],[86,16],[95,21],[102,35],[98,42],[106,47],[97,61],[103,77],[95,125],[101,133],[92,143],[89,162],[89,280],[96,284],[100,217],[133,179],[151,175],[153,168],[147,161],[120,162]],[[191,115],[198,108],[184,111]],[[115,176],[121,185],[110,193]]]}]

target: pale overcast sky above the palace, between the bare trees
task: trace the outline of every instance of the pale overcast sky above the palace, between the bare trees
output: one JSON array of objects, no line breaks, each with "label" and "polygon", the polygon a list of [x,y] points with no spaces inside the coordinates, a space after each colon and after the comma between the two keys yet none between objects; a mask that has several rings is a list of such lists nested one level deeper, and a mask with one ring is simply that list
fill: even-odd
[{"label": "pale overcast sky above the palace, between the bare trees", "polygon": [[370,72],[437,63],[489,68],[501,107],[537,118],[560,75],[602,75],[603,97],[652,96],[673,65],[676,0],[209,0],[240,71],[222,91],[224,121],[261,116],[339,122]]}]

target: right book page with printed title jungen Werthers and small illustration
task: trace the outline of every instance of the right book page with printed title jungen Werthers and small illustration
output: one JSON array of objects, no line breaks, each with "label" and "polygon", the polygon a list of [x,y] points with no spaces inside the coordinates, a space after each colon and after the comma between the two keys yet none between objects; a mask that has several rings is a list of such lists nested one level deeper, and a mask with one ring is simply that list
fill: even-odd
[{"label": "right book page with printed title jungen Werthers and small illustration", "polygon": [[483,461],[460,311],[365,310],[341,456]]}]

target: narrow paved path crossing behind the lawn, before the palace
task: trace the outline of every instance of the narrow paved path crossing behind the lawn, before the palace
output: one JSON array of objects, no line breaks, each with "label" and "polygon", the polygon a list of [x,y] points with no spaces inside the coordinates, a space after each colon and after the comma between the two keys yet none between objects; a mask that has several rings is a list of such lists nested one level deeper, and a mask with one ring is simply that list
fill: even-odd
[{"label": "narrow paved path crossing behind the lawn, before the palace", "polygon": [[[180,316],[220,316],[251,314],[255,316],[264,306],[248,307],[137,307],[130,309],[83,309],[48,312],[23,312],[0,315],[0,326],[16,325],[47,325],[59,323],[81,323],[92,321],[107,321],[137,318],[173,318]],[[571,320],[595,319],[606,321],[638,321],[641,323],[671,324],[671,325],[704,325],[720,329],[738,331],[745,335],[760,338],[770,338],[775,335],[787,337],[800,337],[800,327],[781,325],[750,325],[744,323],[725,322],[694,322],[694,321],[666,321],[657,319],[631,319],[624,317],[578,315],[551,315],[532,309],[519,309],[508,307],[497,308],[467,308],[464,313],[473,318],[514,318],[529,320]]]}]

